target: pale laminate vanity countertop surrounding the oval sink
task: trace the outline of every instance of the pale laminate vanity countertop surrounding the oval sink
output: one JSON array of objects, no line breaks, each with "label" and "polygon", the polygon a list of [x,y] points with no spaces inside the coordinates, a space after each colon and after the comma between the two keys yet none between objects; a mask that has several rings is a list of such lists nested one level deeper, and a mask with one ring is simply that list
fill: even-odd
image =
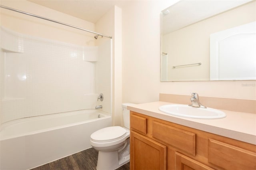
[{"label": "pale laminate vanity countertop surrounding the oval sink", "polygon": [[[152,102],[138,105],[131,105],[127,108],[130,111],[142,113],[151,117],[196,128],[206,132],[226,136],[243,142],[256,144],[256,114],[221,110],[226,113],[222,119],[192,119],[169,115],[158,110],[158,107],[168,104],[168,102]],[[242,106],[241,106],[242,107]]]}]

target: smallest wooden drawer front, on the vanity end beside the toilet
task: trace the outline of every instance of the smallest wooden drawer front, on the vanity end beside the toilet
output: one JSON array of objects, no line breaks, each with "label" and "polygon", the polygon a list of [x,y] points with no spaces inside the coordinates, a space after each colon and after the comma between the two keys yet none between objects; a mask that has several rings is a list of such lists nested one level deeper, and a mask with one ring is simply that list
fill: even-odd
[{"label": "smallest wooden drawer front, on the vanity end beside the toilet", "polygon": [[130,126],[132,130],[147,134],[147,119],[137,115],[130,115]]}]

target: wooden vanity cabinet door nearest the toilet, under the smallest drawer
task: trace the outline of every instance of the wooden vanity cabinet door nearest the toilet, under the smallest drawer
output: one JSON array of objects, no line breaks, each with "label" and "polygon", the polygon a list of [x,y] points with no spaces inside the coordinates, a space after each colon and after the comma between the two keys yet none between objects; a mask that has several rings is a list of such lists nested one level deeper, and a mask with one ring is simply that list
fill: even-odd
[{"label": "wooden vanity cabinet door nearest the toilet, under the smallest drawer", "polygon": [[131,131],[130,169],[166,170],[166,146]]}]

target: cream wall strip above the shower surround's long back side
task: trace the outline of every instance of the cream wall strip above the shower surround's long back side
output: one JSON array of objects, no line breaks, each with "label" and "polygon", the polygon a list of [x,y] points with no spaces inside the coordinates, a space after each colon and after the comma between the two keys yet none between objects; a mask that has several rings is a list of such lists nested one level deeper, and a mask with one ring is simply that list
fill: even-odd
[{"label": "cream wall strip above the shower surround's long back side", "polygon": [[[1,0],[0,3],[1,5],[10,8],[64,22],[87,30],[95,30],[94,23],[63,14],[26,0]],[[4,8],[1,8],[0,10],[1,25],[13,31],[77,45],[94,45],[94,36],[91,33],[6,10]]]}]

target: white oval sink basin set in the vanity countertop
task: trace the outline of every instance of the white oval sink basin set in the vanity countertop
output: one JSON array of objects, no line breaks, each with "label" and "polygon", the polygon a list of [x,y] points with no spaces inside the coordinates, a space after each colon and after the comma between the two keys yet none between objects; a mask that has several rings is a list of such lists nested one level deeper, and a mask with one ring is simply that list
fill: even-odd
[{"label": "white oval sink basin set in the vanity countertop", "polygon": [[221,119],[226,113],[212,108],[198,108],[188,105],[163,105],[159,110],[174,116],[188,117],[194,119]]}]

